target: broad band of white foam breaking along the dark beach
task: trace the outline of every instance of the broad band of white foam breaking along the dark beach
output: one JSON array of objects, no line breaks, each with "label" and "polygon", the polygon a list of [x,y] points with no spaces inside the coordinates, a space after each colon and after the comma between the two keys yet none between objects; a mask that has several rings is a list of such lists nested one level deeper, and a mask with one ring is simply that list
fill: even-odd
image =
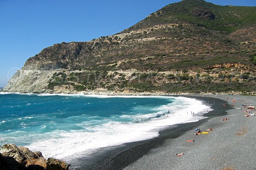
[{"label": "broad band of white foam breaking along the dark beach", "polygon": [[[44,156],[60,159],[79,152],[90,154],[92,150],[101,147],[157,137],[160,129],[169,125],[196,122],[199,119],[204,119],[203,113],[211,110],[209,106],[195,99],[168,98],[175,99],[175,102],[155,108],[158,110],[156,113],[120,116],[134,120],[141,119],[137,123],[134,123],[135,121],[117,122],[113,119],[105,119],[104,124],[92,127],[88,126],[88,122],[83,122],[77,125],[84,127],[85,130],[71,130],[70,132],[55,130],[51,133],[43,133],[40,136],[32,137],[35,142],[26,147],[40,150]],[[195,114],[192,115],[191,111]]]}]

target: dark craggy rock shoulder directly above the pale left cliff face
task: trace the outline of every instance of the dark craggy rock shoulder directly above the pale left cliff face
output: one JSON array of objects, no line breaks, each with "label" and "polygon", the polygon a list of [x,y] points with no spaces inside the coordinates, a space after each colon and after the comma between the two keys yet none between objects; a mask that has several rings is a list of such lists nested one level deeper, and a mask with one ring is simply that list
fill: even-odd
[{"label": "dark craggy rock shoulder directly above the pale left cliff face", "polygon": [[39,54],[29,58],[23,70],[57,70],[74,68],[82,64],[90,54],[94,42],[62,42],[44,48]]}]

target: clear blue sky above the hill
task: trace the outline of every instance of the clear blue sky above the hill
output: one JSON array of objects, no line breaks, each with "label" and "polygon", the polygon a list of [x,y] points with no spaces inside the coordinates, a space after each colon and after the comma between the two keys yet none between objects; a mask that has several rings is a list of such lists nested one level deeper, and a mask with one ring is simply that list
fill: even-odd
[{"label": "clear blue sky above the hill", "polygon": [[[118,33],[178,1],[0,0],[0,87],[43,48]],[[256,6],[256,0],[207,1]]]}]

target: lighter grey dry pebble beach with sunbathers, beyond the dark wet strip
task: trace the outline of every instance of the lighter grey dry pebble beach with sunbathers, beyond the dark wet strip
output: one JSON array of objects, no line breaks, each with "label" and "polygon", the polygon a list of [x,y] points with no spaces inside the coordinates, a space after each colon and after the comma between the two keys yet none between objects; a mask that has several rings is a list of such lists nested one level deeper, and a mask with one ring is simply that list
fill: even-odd
[{"label": "lighter grey dry pebble beach with sunbathers, beyond the dark wet strip", "polygon": [[[255,105],[255,97],[237,95],[205,95],[204,97],[221,99],[223,103],[228,103],[230,106],[223,108],[227,109],[226,114],[209,117],[210,119],[198,125],[203,131],[209,127],[212,127],[213,131],[195,136],[192,134],[194,132],[192,128],[177,138],[167,139],[163,145],[151,150],[150,153],[124,169],[255,169],[256,163],[251,161],[251,158],[254,157],[256,130],[253,125],[256,123],[256,116],[246,117],[245,109],[241,109],[243,101]],[[236,99],[236,103],[231,101],[233,98]],[[228,120],[222,121],[225,117]],[[186,140],[195,140],[195,142],[186,142]],[[184,155],[175,156],[177,153],[184,153]]]}]

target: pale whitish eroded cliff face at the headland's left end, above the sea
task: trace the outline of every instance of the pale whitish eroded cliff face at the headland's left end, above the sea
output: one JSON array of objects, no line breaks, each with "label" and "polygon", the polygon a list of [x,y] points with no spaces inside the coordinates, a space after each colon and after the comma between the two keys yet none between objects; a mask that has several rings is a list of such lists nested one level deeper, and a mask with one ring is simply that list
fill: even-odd
[{"label": "pale whitish eroded cliff face at the headland's left end, above the sea", "polygon": [[41,70],[19,70],[9,80],[8,85],[3,91],[20,92],[20,93],[51,93],[48,90],[49,79],[55,71]]}]

